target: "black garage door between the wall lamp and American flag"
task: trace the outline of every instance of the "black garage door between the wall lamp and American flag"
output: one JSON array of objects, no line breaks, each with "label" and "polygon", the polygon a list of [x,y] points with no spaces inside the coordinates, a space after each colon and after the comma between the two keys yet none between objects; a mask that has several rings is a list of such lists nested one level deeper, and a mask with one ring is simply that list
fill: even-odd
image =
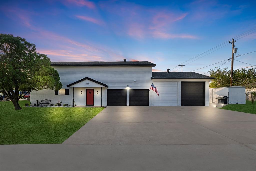
[{"label": "black garage door between the wall lamp and American flag", "polygon": [[130,89],[130,106],[149,106],[149,89]]}]

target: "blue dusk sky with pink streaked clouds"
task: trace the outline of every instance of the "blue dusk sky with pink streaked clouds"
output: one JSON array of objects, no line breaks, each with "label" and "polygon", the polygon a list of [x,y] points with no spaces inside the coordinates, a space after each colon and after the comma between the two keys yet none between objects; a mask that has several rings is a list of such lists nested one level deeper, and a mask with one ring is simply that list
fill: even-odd
[{"label": "blue dusk sky with pink streaked clouds", "polygon": [[[126,58],[150,61],[156,64],[155,70],[166,71],[255,28],[255,6],[254,1],[205,0],[2,1],[0,32],[35,43],[37,51],[52,61]],[[229,44],[195,62],[185,62],[184,71],[229,59],[231,48]],[[240,55],[256,51],[256,32],[239,39],[236,48]],[[255,57],[256,52],[236,59],[256,65]],[[223,63],[195,72],[206,73]],[[245,63],[235,61],[234,68],[250,66]],[[230,66],[227,62],[221,68]]]}]

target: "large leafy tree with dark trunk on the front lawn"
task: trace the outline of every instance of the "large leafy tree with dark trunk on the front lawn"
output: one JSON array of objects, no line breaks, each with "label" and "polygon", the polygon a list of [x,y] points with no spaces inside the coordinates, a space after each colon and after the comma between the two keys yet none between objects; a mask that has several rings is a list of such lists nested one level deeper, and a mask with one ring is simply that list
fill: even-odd
[{"label": "large leafy tree with dark trunk on the front lawn", "polygon": [[0,91],[12,100],[15,109],[22,109],[18,101],[25,92],[62,88],[59,73],[50,62],[45,54],[36,52],[35,44],[0,34]]}]

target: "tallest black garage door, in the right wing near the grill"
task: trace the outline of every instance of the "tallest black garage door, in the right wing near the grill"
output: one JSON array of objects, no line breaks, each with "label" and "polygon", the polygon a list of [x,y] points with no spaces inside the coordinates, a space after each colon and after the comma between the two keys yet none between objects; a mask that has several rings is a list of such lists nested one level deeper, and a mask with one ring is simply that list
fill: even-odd
[{"label": "tallest black garage door, in the right wing near the grill", "polygon": [[181,106],[205,106],[205,82],[181,82]]}]

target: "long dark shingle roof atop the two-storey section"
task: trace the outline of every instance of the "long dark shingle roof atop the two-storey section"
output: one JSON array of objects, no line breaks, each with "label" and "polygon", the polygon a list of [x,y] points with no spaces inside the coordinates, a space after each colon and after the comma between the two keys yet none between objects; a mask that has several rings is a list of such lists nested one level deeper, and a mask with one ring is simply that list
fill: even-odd
[{"label": "long dark shingle roof atop the two-storey section", "polygon": [[51,66],[156,66],[148,61],[126,61],[126,62],[51,62]]}]

